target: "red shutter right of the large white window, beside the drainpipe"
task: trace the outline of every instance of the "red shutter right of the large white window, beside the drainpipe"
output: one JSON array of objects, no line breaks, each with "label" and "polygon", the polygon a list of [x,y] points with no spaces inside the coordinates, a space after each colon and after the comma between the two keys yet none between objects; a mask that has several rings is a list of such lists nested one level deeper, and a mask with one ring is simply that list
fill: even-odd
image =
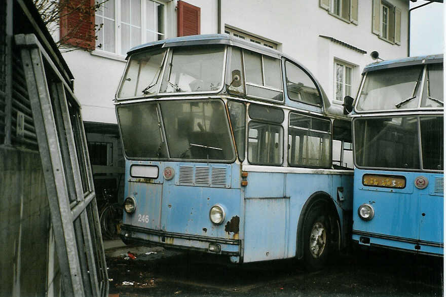
[{"label": "red shutter right of the large white window, beside the drainpipe", "polygon": [[200,8],[178,1],[178,36],[200,34]]}]

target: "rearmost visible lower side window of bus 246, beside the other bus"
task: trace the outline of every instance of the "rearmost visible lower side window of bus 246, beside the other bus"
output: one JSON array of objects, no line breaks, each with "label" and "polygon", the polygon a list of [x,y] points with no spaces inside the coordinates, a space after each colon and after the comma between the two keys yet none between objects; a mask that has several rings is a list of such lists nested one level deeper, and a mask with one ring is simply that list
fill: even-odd
[{"label": "rearmost visible lower side window of bus 246, beside the other bus", "polygon": [[349,121],[334,120],[331,156],[334,169],[353,169],[352,130]]}]

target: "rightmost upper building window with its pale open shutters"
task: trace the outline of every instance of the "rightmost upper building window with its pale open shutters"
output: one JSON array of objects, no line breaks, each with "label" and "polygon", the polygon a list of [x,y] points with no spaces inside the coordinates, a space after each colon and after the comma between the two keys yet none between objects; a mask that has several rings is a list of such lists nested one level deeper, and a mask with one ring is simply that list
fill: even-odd
[{"label": "rightmost upper building window with its pale open shutters", "polygon": [[401,11],[388,2],[373,0],[372,31],[392,44],[401,44]]}]

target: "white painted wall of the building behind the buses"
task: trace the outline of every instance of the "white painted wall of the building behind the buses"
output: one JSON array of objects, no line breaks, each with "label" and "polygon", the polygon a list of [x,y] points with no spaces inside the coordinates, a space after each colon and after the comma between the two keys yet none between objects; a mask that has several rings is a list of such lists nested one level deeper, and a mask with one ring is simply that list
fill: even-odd
[{"label": "white painted wall of the building behind the buses", "polygon": [[[201,33],[217,32],[217,0],[186,0],[201,8]],[[371,33],[370,0],[358,1],[358,25],[333,17],[319,1],[222,0],[221,30],[225,24],[279,43],[279,49],[303,63],[319,80],[328,98],[334,93],[334,59],[355,65],[353,94],[362,68],[378,51],[384,59],[407,55],[408,0],[388,0],[401,10],[401,45],[392,45]],[[176,0],[166,3],[166,37],[176,36]],[[319,37],[334,39],[367,51],[361,54]],[[81,101],[85,121],[116,123],[113,99],[125,67],[121,59],[110,59],[77,50],[63,54],[75,77],[75,93]]]}]

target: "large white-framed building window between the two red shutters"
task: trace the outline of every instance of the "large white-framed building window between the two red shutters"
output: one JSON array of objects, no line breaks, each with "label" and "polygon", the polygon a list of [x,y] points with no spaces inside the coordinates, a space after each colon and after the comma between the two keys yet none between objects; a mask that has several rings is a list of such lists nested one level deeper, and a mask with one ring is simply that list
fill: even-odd
[{"label": "large white-framed building window between the two red shutters", "polygon": [[164,4],[152,0],[98,1],[96,48],[126,55],[132,47],[164,39]]}]

